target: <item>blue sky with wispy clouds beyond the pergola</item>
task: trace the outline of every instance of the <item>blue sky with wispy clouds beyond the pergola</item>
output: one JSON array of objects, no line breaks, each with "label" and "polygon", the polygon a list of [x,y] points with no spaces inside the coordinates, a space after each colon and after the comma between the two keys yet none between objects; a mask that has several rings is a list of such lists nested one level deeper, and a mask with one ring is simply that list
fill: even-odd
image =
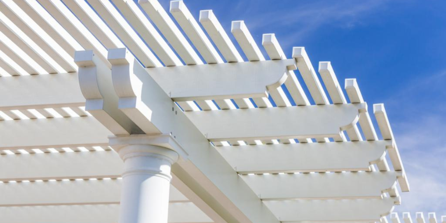
[{"label": "blue sky with wispy clouds beyond the pergola", "polygon": [[228,33],[232,20],[244,20],[259,45],[275,33],[287,56],[303,46],[313,66],[332,61],[341,85],[357,78],[371,112],[385,103],[409,178],[395,211],[446,215],[446,1],[184,2],[197,19],[213,9]]}]

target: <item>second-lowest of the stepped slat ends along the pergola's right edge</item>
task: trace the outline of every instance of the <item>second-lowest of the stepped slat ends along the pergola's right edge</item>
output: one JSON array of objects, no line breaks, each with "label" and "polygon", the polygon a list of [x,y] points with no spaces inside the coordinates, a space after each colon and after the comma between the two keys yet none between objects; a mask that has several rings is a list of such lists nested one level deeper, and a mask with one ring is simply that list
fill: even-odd
[{"label": "second-lowest of the stepped slat ends along the pergola's right edge", "polygon": [[[364,102],[356,79],[345,79],[345,91],[350,99],[350,103]],[[359,115],[359,124],[366,140],[378,140],[369,112],[361,113]]]}]

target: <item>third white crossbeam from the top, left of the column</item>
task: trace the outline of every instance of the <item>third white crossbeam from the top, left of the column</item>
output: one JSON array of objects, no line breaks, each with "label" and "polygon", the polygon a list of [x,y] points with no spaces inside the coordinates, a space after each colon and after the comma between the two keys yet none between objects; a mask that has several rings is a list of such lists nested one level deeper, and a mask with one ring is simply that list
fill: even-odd
[{"label": "third white crossbeam from the top, left of the column", "polygon": [[[10,168],[10,167],[14,168]],[[1,156],[0,180],[62,180],[116,178],[122,160],[112,150],[100,152],[36,153]]]}]

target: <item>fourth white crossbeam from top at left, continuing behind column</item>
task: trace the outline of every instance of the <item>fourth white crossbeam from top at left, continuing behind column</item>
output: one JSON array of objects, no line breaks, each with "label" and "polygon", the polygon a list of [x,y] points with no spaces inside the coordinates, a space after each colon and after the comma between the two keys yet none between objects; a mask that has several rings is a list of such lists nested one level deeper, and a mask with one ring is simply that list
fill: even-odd
[{"label": "fourth white crossbeam from top at left, continuing behind column", "polygon": [[[9,182],[0,184],[0,207],[119,204],[121,179]],[[169,202],[188,199],[170,186]]]}]

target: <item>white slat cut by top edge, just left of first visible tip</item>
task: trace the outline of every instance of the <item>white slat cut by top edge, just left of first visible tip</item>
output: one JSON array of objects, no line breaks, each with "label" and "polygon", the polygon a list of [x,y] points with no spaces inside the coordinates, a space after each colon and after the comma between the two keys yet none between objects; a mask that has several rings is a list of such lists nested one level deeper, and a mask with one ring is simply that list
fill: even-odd
[{"label": "white slat cut by top edge, just left of first visible tip", "polygon": [[138,3],[187,65],[203,64],[158,0],[139,0]]}]

